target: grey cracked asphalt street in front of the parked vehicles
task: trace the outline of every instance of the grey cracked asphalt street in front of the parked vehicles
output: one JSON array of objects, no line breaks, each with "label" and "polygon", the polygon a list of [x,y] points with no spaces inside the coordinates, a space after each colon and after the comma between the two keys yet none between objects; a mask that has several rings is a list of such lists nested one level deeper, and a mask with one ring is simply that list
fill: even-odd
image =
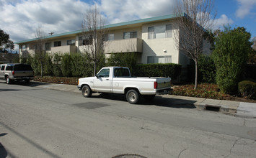
[{"label": "grey cracked asphalt street in front of the parked vehicles", "polygon": [[0,157],[256,157],[256,119],[169,99],[0,83]]}]

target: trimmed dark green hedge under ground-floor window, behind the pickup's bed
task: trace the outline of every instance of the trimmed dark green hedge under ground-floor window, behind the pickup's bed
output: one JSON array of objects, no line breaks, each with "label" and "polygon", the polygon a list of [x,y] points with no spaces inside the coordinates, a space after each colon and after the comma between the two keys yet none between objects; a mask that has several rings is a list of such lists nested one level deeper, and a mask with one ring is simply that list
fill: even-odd
[{"label": "trimmed dark green hedge under ground-floor window, behind the pickup's bed", "polygon": [[140,77],[170,77],[176,79],[181,74],[181,67],[181,65],[172,63],[136,65],[134,75]]}]

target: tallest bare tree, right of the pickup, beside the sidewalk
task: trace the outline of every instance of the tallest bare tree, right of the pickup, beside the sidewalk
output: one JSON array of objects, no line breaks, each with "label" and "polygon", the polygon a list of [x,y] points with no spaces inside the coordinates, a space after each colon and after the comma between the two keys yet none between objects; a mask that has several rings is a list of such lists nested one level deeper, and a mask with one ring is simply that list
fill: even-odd
[{"label": "tallest bare tree, right of the pickup, beside the sidewalk", "polygon": [[174,8],[179,30],[175,32],[175,46],[195,62],[195,89],[198,87],[198,57],[203,52],[203,40],[216,17],[214,0],[181,0]]}]

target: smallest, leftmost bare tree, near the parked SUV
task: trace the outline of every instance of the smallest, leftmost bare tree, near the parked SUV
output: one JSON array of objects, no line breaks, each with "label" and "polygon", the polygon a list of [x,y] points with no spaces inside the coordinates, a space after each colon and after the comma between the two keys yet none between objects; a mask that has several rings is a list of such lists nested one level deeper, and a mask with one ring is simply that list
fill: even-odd
[{"label": "smallest, leftmost bare tree, near the parked SUV", "polygon": [[45,63],[45,32],[43,32],[43,29],[41,27],[37,27],[35,29],[35,57],[39,60],[41,65],[41,77],[43,77],[43,65]]}]

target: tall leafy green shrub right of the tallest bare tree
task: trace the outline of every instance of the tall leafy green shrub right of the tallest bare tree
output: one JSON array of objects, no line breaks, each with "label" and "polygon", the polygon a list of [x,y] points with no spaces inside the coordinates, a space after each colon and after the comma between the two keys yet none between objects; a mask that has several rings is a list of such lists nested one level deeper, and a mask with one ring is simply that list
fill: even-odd
[{"label": "tall leafy green shrub right of the tallest bare tree", "polygon": [[250,33],[246,32],[243,27],[226,29],[225,32],[219,34],[219,37],[216,37],[213,56],[216,64],[216,82],[222,92],[237,93],[250,46]]}]

